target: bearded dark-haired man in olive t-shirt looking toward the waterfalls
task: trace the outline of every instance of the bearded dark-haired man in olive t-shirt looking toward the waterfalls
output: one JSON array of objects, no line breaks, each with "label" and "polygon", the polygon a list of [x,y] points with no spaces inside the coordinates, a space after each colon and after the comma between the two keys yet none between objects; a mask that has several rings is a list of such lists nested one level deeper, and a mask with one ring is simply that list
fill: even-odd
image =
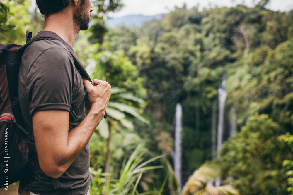
[{"label": "bearded dark-haired man in olive t-shirt looking toward the waterfalls", "polygon": [[[44,32],[55,33],[72,45],[79,30],[87,30],[93,6],[91,0],[37,0],[45,16]],[[33,42],[25,50],[18,80],[18,92],[25,127],[34,134],[37,156],[33,172],[20,180],[19,194],[89,194],[89,145],[102,120],[111,86],[105,81],[83,80],[67,47],[57,40]],[[71,105],[84,92],[84,106],[69,125]],[[52,178],[59,178],[61,187]]]}]

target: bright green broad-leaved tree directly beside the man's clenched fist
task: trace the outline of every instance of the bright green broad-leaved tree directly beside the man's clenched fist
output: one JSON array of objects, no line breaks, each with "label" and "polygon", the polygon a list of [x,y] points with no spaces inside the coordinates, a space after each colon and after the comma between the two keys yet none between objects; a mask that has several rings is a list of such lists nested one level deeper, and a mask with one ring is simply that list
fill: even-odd
[{"label": "bright green broad-leaved tree directly beside the man's clenched fist", "polygon": [[[137,67],[122,55],[122,51],[94,52],[97,47],[98,44],[88,47],[83,56],[87,56],[86,61],[91,62],[86,68],[92,79],[105,79],[111,83],[111,97],[107,108],[110,116],[109,124],[113,125],[113,122],[118,121],[127,129],[132,130],[134,127],[129,121],[130,116],[148,123],[141,116],[142,109],[146,106],[142,99],[145,97],[146,90],[141,84],[143,79],[138,77]],[[114,121],[111,122],[111,118]],[[102,120],[98,127],[100,134],[105,138],[108,138],[109,133],[102,131],[109,131],[109,128],[105,120]]]}]

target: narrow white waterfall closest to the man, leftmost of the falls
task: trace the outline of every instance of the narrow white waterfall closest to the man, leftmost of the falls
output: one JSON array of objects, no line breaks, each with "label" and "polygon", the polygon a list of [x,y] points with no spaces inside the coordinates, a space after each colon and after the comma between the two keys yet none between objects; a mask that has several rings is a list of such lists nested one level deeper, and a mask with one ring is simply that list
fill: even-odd
[{"label": "narrow white waterfall closest to the man, leftmost of the falls", "polygon": [[180,103],[176,105],[175,113],[175,146],[174,146],[174,172],[181,186],[181,161],[182,161],[182,106]]}]

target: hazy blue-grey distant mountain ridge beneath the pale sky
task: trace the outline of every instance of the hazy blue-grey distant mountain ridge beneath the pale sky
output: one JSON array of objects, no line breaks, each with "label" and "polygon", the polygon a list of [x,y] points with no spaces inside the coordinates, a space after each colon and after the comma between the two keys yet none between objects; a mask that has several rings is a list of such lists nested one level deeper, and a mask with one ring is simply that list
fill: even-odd
[{"label": "hazy blue-grey distant mountain ridge beneath the pale sky", "polygon": [[120,18],[111,18],[105,20],[106,25],[109,28],[116,28],[120,25],[126,27],[139,27],[143,22],[151,21],[151,20],[160,20],[164,14],[146,16],[146,15],[126,15]]}]

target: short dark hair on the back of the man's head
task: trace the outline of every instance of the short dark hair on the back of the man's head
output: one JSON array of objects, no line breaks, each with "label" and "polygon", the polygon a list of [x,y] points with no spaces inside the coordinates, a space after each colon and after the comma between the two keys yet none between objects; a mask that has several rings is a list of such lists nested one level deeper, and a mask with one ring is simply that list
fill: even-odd
[{"label": "short dark hair on the back of the man's head", "polygon": [[49,16],[52,13],[57,13],[69,5],[70,0],[36,0],[41,14]]}]

